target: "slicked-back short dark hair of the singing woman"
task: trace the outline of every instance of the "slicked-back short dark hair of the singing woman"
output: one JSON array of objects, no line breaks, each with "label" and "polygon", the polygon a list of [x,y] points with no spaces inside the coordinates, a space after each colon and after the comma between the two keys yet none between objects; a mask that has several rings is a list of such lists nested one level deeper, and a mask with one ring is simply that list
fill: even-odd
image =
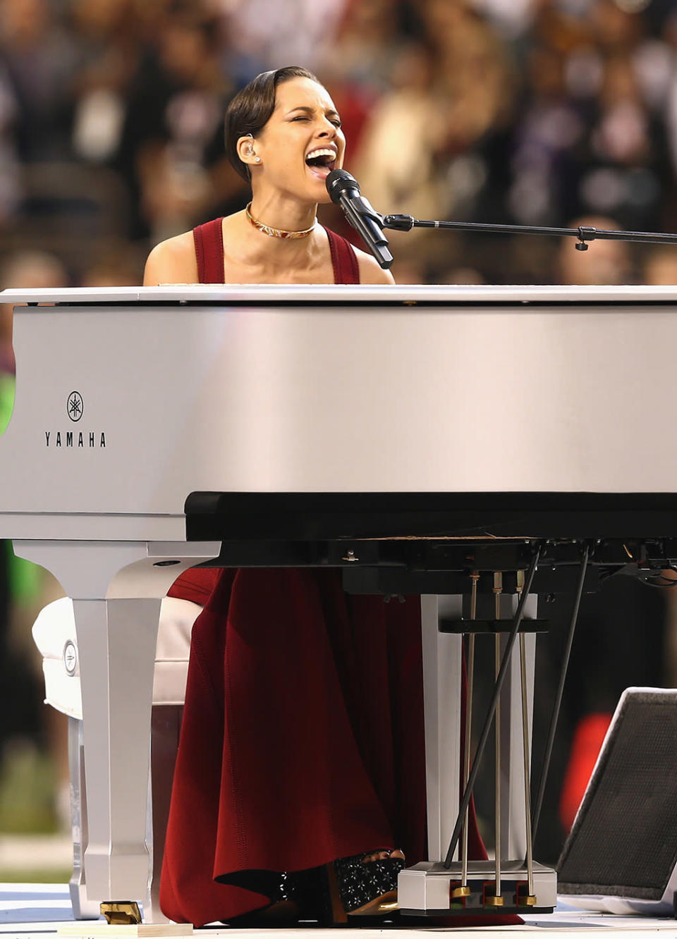
[{"label": "slicked-back short dark hair of the singing woman", "polygon": [[312,71],[302,69],[300,65],[285,66],[284,69],[262,71],[245,85],[230,102],[225,112],[225,154],[239,175],[252,181],[249,166],[238,157],[238,140],[251,133],[253,137],[268,124],[269,117],[275,110],[275,91],[278,85],[291,78],[310,78],[322,83]]}]

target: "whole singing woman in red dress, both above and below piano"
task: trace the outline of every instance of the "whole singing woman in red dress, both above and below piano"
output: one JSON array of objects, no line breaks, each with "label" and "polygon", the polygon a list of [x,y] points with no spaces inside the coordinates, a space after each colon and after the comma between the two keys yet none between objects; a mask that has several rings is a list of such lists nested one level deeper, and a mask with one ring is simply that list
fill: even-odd
[{"label": "whole singing woman in red dress, both above and below piano", "polygon": [[[251,203],[159,244],[146,285],[393,283],[315,219],[346,146],[315,76],[259,75],[231,102],[225,133]],[[347,596],[337,571],[316,568],[189,571],[171,593],[206,606],[192,633],[165,915],[199,926],[392,911],[399,849],[410,863],[425,853],[419,598]],[[476,835],[471,845],[485,856]]]}]

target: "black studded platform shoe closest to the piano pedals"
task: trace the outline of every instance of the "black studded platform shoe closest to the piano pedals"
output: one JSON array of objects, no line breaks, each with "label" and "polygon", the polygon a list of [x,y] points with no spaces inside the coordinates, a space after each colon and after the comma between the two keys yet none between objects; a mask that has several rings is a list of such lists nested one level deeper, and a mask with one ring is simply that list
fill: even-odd
[{"label": "black studded platform shoe closest to the piano pedals", "polygon": [[348,916],[389,916],[397,910],[397,875],[405,866],[401,857],[365,861],[377,852],[339,857],[327,866],[331,919]]}]

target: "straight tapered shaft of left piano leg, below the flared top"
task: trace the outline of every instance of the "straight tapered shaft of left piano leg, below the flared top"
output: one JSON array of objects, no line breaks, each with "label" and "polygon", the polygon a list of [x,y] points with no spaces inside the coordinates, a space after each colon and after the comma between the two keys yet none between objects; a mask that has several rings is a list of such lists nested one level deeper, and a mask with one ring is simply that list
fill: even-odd
[{"label": "straight tapered shaft of left piano leg, below the flared top", "polygon": [[144,901],[160,599],[73,600],[73,613],[83,693],[87,897]]}]

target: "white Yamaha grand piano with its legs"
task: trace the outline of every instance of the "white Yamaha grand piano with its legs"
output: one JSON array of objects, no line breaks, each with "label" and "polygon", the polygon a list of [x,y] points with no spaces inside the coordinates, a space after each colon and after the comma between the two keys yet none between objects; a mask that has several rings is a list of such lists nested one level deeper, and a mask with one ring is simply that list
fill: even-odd
[{"label": "white Yamaha grand piano with its legs", "polygon": [[[354,589],[422,593],[439,861],[457,811],[439,793],[459,774],[461,639],[438,621],[461,615],[464,568],[527,567],[546,539],[555,554],[587,540],[598,562],[636,542],[660,564],[677,537],[665,420],[677,289],[191,285],[2,300],[27,305],[0,537],[73,599],[90,899],[146,899],[155,639],[181,570],[333,563]],[[530,639],[531,670],[532,652]],[[516,778],[521,756],[508,759]],[[504,817],[518,856],[524,812]]]}]

